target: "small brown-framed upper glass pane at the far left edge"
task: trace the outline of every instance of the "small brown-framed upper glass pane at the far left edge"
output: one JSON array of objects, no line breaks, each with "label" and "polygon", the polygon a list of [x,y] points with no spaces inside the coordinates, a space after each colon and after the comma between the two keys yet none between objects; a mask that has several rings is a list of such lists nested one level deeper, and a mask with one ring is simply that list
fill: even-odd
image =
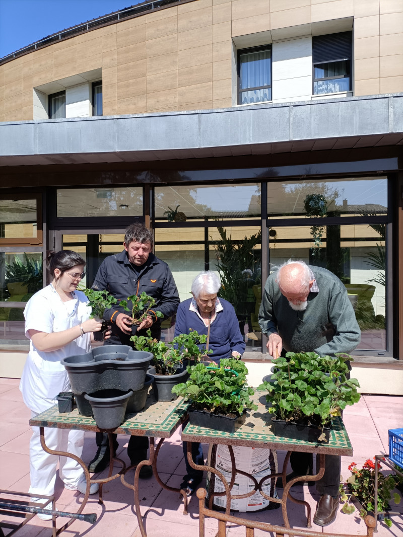
[{"label": "small brown-framed upper glass pane at the far left edge", "polygon": [[37,200],[0,200],[0,238],[37,236]]}]

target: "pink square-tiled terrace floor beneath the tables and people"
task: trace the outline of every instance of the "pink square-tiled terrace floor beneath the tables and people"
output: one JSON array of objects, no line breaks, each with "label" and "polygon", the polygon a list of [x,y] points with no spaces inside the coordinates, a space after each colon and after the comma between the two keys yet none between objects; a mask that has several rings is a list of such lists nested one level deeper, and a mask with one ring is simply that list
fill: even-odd
[{"label": "pink square-tiled terrace floor beneath the tables and people", "polygon": [[[27,492],[30,486],[29,475],[29,440],[31,437],[28,425],[30,412],[25,407],[17,379],[0,378],[0,489]],[[342,458],[342,475],[347,477],[347,467],[354,460],[359,467],[366,459],[372,459],[376,454],[388,453],[388,429],[403,427],[403,397],[363,395],[361,400],[353,407],[344,411],[344,423],[354,449],[354,456]],[[127,437],[118,437],[118,456],[128,462],[125,447]],[[207,446],[204,446],[205,453]],[[89,462],[95,454],[95,438],[87,433],[85,439],[83,460]],[[278,452],[279,464],[282,464],[285,453]],[[184,475],[183,460],[179,430],[170,440],[165,440],[159,455],[159,474],[164,482],[172,487],[179,487]],[[104,471],[106,473],[106,470]],[[131,481],[128,476],[128,481]],[[190,500],[189,515],[183,515],[181,496],[162,490],[155,478],[140,480],[140,504],[148,537],[197,537],[198,534],[198,500],[196,495]],[[316,495],[314,488],[294,488],[294,495],[305,499],[312,506],[314,513]],[[282,494],[282,490],[279,491]],[[83,495],[79,492],[63,488],[61,480],[56,480],[56,504],[59,510],[76,512]],[[114,480],[104,485],[104,504],[99,505],[97,495],[91,497],[85,507],[85,512],[97,513],[97,522],[91,526],[82,521],[75,523],[62,535],[66,537],[140,537],[137,518],[133,508],[132,492],[124,487],[120,481]],[[289,518],[293,527],[304,527],[305,512],[302,506],[289,503]],[[312,525],[317,532],[349,533],[364,535],[366,533],[363,520],[358,513],[347,515],[340,510],[335,522],[321,528]],[[403,502],[395,506],[395,510],[403,511]],[[232,511],[234,516],[238,513]],[[282,525],[281,510],[262,511],[255,513],[241,513],[241,517],[270,522]],[[7,518],[0,514],[0,520]],[[17,519],[18,520],[18,519]],[[57,525],[67,519],[57,519]],[[393,526],[388,529],[384,524],[378,523],[379,537],[401,537],[403,535],[403,517],[392,516]],[[14,519],[13,521],[16,521]],[[7,530],[5,530],[6,534]],[[206,536],[210,537],[217,532],[217,521],[206,519]],[[34,517],[30,523],[22,528],[18,536],[48,537],[52,535],[51,522],[39,520]],[[227,536],[238,537],[245,535],[244,527],[227,525]],[[256,537],[269,535],[261,531],[255,532]]]}]

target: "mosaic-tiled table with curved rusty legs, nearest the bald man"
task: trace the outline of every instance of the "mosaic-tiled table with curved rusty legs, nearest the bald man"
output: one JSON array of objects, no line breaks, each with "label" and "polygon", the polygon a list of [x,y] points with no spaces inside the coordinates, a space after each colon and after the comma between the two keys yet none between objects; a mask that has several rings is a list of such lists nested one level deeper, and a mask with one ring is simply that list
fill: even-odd
[{"label": "mosaic-tiled table with curved rusty legs, nearest the bald man", "polygon": [[[211,471],[217,475],[222,483],[224,484],[224,492],[214,492],[210,495],[209,506],[212,509],[213,497],[214,496],[226,496],[226,514],[229,514],[229,509],[231,508],[231,499],[246,498],[255,494],[256,490],[259,490],[261,495],[266,499],[269,499],[271,502],[279,503],[282,506],[283,518],[285,527],[290,528],[288,516],[287,516],[287,505],[286,500],[291,499],[294,503],[305,505],[307,509],[307,527],[311,527],[311,507],[307,502],[303,500],[298,500],[290,494],[290,488],[294,483],[298,481],[319,481],[323,476],[325,471],[325,456],[326,455],[352,455],[352,447],[348,434],[341,418],[336,418],[333,421],[332,429],[330,429],[330,438],[327,444],[316,442],[307,442],[304,440],[293,440],[290,438],[283,438],[275,436],[271,423],[271,416],[267,411],[267,403],[265,398],[265,392],[256,391],[254,395],[254,403],[257,404],[258,409],[256,411],[250,410],[247,412],[247,418],[243,425],[235,433],[226,433],[221,431],[214,431],[213,429],[206,429],[205,427],[198,427],[196,425],[191,425],[188,423],[182,432],[182,440],[188,442],[188,460],[190,465],[195,469],[204,469]],[[208,444],[223,444],[228,446],[229,455],[231,456],[232,462],[232,477],[231,482],[228,484],[225,480],[225,477],[220,473],[219,470],[212,467],[203,467],[197,466],[193,463],[191,458],[191,442],[207,442]],[[240,470],[236,469],[235,458],[232,446],[244,446],[244,447],[261,447],[261,448],[270,448],[270,449],[282,449],[287,452],[286,457],[283,463],[283,469],[280,473],[270,474],[261,479],[260,482],[257,482],[254,476],[250,474],[245,474]],[[286,484],[286,469],[287,464],[290,460],[291,453],[293,451],[300,451],[306,453],[315,453],[316,454],[316,470],[318,473],[314,476],[299,476],[296,479],[293,479]],[[255,489],[250,491],[247,495],[235,496],[231,495],[231,489],[235,482],[236,473],[242,473],[243,475],[248,475],[251,480],[255,483]],[[273,498],[267,496],[262,491],[262,485],[269,478],[282,477],[284,492],[283,498]]]}]

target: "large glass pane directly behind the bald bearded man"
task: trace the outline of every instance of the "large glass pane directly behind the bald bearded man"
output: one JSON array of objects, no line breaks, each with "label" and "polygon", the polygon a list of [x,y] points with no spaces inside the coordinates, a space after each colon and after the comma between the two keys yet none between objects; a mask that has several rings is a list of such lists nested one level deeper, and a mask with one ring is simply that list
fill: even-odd
[{"label": "large glass pane directly behind the bald bearded man", "polygon": [[[274,228],[270,228],[273,230]],[[386,226],[326,226],[320,255],[312,255],[309,226],[269,234],[270,272],[290,258],[324,267],[347,287],[361,328],[358,350],[386,350]]]}]

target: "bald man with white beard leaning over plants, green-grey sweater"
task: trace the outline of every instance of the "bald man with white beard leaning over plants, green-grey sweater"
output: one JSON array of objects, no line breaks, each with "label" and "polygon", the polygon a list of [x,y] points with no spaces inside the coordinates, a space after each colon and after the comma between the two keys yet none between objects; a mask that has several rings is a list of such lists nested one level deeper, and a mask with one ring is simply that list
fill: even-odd
[{"label": "bald man with white beard leaning over plants, green-grey sweater", "polygon": [[[268,337],[268,352],[277,357],[291,352],[316,352],[320,356],[351,353],[361,340],[361,331],[347,289],[332,272],[290,259],[270,274],[264,286],[258,315]],[[292,478],[312,474],[313,456],[291,455]],[[327,455],[325,475],[316,482],[320,499],[313,521],[328,526],[339,506],[341,458]],[[281,483],[277,483],[277,487]]]}]

